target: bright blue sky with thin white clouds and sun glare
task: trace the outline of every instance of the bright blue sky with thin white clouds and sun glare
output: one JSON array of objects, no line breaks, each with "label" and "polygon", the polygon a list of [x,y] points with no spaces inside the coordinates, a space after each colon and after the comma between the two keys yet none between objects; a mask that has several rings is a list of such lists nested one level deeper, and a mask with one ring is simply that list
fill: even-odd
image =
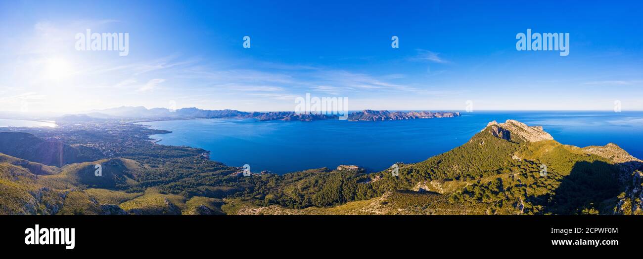
[{"label": "bright blue sky with thin white clouds and sun glare", "polygon": [[[350,110],[643,110],[643,4],[345,2],[2,1],[0,110],[293,110],[306,93]],[[129,54],[77,51],[86,29],[129,33]],[[517,51],[527,29],[570,33],[569,55]]]}]

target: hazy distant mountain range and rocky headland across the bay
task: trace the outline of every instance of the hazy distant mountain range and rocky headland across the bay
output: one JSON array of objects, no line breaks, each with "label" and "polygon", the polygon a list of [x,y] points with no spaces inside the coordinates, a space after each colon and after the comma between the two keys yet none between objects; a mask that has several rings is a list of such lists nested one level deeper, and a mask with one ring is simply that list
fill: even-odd
[{"label": "hazy distant mountain range and rocky headland across the bay", "polygon": [[[387,110],[363,110],[349,113],[349,121],[388,121],[404,119],[429,119],[458,117],[459,112],[389,112]],[[98,122],[106,119],[127,119],[141,121],[179,119],[255,118],[258,121],[319,121],[339,119],[338,115],[300,114],[295,112],[240,112],[238,110],[201,110],[199,108],[147,109],[143,106],[122,106],[106,110],[93,110],[82,114],[63,115],[57,122]]]}]

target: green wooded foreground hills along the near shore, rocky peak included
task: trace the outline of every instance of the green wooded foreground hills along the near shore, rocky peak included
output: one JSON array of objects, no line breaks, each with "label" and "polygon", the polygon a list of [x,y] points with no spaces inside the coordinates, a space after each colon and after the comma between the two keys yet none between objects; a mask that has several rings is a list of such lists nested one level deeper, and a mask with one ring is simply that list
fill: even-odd
[{"label": "green wooded foreground hills along the near shore, rocky peak included", "polygon": [[340,167],[244,177],[190,147],[123,150],[63,167],[0,154],[0,214],[643,213],[641,160],[615,144],[563,145],[511,120],[399,163],[398,176]]}]

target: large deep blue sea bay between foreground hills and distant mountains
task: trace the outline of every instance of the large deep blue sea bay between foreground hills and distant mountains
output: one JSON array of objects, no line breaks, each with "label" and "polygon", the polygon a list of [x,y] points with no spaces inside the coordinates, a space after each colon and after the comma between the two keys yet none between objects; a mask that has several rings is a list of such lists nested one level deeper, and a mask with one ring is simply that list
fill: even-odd
[{"label": "large deep blue sea bay between foreground hills and distant mountains", "polygon": [[396,162],[415,163],[460,146],[488,122],[515,119],[543,126],[574,146],[613,142],[643,158],[643,112],[473,112],[457,118],[405,121],[258,122],[208,119],[143,122],[173,131],[153,135],[159,144],[200,147],[226,165],[285,173],[340,164],[381,171]]}]

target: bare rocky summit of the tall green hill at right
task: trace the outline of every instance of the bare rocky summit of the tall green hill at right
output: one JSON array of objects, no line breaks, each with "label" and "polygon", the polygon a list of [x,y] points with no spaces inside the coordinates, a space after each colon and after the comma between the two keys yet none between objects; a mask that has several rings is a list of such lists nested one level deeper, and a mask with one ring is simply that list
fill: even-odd
[{"label": "bare rocky summit of the tall green hill at right", "polygon": [[554,139],[541,126],[527,126],[527,124],[514,120],[507,120],[504,123],[492,121],[487,124],[485,129],[487,128],[490,128],[491,135],[494,137],[517,142],[538,142]]}]

